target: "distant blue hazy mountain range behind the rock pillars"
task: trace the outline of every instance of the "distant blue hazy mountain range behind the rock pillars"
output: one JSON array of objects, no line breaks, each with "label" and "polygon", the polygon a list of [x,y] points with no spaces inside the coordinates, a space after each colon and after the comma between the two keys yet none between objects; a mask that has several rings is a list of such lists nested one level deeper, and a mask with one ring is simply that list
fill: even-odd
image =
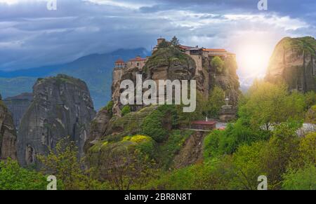
[{"label": "distant blue hazy mountain range behind the rock pillars", "polygon": [[13,72],[0,71],[0,93],[3,97],[32,92],[37,78],[67,74],[85,81],[96,109],[100,109],[111,98],[112,69],[118,58],[129,60],[136,55],[150,55],[145,48],[119,49],[112,53],[92,54],[73,62],[52,66],[21,69]]}]

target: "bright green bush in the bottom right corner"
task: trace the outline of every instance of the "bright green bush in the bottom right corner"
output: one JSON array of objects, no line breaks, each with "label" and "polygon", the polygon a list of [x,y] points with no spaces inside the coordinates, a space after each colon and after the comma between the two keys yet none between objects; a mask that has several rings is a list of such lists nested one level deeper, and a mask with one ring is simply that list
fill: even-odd
[{"label": "bright green bush in the bottom right corner", "polygon": [[315,164],[306,165],[298,170],[287,170],[283,179],[282,189],[284,190],[316,190]]}]

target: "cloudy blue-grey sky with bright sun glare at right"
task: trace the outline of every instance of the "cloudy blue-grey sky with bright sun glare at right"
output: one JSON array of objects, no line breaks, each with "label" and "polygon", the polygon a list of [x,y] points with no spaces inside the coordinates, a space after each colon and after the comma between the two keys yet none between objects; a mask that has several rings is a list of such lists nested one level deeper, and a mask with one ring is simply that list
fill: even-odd
[{"label": "cloudy blue-grey sky with bright sun glare at right", "polygon": [[[239,76],[263,76],[284,36],[316,36],[315,0],[0,0],[0,70],[70,62],[118,48],[150,50],[159,36],[237,53]],[[258,57],[261,56],[261,57]],[[247,59],[256,59],[247,60]]]}]

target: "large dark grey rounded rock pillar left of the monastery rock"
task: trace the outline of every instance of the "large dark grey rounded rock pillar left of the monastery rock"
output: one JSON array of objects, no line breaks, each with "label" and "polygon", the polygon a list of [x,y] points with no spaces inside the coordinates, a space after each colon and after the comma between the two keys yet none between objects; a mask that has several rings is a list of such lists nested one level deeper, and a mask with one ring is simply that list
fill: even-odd
[{"label": "large dark grey rounded rock pillar left of the monastery rock", "polygon": [[62,137],[70,136],[83,154],[88,123],[96,112],[84,81],[58,75],[39,79],[33,102],[18,131],[18,159],[22,165],[37,164],[36,154],[47,154]]}]

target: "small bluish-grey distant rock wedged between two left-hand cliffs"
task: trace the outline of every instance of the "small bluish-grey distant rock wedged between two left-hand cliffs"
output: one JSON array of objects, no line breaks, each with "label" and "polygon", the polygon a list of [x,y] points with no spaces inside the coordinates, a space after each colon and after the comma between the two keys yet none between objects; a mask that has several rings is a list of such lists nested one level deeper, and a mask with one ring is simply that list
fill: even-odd
[{"label": "small bluish-grey distant rock wedged between two left-hand cliffs", "polygon": [[14,125],[17,130],[20,126],[22,116],[29,107],[29,104],[31,104],[32,100],[32,93],[22,93],[14,97],[7,97],[4,100],[6,107],[8,107],[8,110],[13,116]]}]

